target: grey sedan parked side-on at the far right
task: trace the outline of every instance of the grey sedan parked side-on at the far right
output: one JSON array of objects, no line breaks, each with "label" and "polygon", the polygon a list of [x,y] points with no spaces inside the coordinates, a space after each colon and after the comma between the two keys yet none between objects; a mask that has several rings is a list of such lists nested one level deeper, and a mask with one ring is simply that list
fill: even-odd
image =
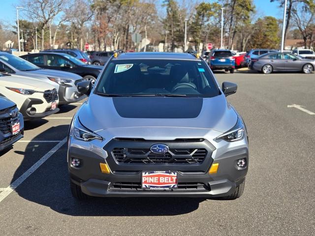
[{"label": "grey sedan parked side-on at the far right", "polygon": [[273,71],[302,71],[312,73],[315,69],[315,61],[301,59],[292,53],[269,53],[252,59],[250,69],[270,74]]}]

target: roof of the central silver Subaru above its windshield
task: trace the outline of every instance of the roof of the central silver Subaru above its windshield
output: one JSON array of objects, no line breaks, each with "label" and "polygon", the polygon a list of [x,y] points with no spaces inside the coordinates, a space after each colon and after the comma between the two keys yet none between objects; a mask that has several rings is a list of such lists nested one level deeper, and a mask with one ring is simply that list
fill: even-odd
[{"label": "roof of the central silver Subaru above its windshield", "polygon": [[121,53],[113,59],[182,59],[200,60],[189,53],[163,53],[163,52],[140,52],[140,53]]}]

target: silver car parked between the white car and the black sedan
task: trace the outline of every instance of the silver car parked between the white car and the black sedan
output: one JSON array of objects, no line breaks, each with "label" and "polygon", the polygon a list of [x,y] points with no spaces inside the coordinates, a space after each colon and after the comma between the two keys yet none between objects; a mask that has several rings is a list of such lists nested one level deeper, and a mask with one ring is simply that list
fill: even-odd
[{"label": "silver car parked between the white car and the black sedan", "polygon": [[[40,64],[43,56],[27,55],[30,62]],[[49,83],[58,90],[59,104],[69,104],[86,98],[86,95],[79,93],[77,84],[83,80],[79,75],[40,68],[29,61],[7,53],[0,53],[0,71],[22,76],[32,77]]]}]

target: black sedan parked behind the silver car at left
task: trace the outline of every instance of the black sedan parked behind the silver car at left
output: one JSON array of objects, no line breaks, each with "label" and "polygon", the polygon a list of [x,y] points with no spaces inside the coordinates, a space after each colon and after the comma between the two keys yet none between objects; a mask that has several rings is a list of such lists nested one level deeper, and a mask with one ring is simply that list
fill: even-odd
[{"label": "black sedan parked behind the silver car at left", "polygon": [[[43,56],[43,61],[32,59],[40,56]],[[102,66],[87,65],[81,60],[64,53],[34,53],[21,56],[21,58],[32,60],[32,63],[41,68],[75,73],[83,77],[84,80],[92,81],[92,83],[95,83],[99,72],[103,68]]]}]

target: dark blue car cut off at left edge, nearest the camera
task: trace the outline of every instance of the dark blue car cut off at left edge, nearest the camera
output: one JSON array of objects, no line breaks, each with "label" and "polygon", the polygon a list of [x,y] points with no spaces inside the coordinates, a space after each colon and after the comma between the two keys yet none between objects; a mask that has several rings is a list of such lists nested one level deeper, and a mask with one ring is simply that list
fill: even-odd
[{"label": "dark blue car cut off at left edge, nearest the camera", "polygon": [[16,104],[0,96],[0,152],[23,138],[24,120]]}]

